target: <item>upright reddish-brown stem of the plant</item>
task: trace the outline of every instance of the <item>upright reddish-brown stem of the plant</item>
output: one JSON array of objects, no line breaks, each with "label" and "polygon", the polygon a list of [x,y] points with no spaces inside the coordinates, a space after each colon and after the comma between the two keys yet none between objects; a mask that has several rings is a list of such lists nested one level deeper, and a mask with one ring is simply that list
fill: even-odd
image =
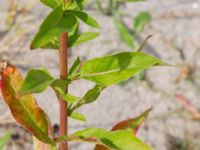
[{"label": "upright reddish-brown stem of the plant", "polygon": [[[68,34],[63,33],[60,36],[60,78],[66,79],[68,75]],[[66,87],[66,92],[68,87]],[[60,136],[67,135],[68,119],[67,119],[67,102],[60,99]],[[68,143],[60,143],[60,150],[67,150]]]}]

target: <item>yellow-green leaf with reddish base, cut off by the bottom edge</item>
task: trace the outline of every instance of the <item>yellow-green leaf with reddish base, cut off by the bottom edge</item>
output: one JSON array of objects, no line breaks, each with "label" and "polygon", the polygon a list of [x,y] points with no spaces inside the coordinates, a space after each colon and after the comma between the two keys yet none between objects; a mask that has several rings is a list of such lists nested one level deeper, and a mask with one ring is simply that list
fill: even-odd
[{"label": "yellow-green leaf with reddish base, cut off by the bottom edge", "polygon": [[78,141],[101,144],[111,150],[151,150],[130,131],[107,131],[102,128],[81,130],[68,137],[57,138],[56,141]]}]

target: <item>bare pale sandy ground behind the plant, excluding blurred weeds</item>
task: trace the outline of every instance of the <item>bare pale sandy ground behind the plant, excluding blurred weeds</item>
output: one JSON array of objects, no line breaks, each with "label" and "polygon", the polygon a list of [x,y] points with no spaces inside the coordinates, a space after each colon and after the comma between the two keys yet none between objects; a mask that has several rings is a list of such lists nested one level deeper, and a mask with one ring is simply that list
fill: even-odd
[{"label": "bare pale sandy ground behind the plant, excluding blurred weeds", "polygon": [[[1,0],[0,4],[2,2]],[[153,106],[153,111],[139,132],[139,137],[152,145],[154,150],[176,150],[175,147],[172,147],[172,143],[177,144],[181,141],[189,141],[192,147],[183,149],[177,146],[177,150],[199,150],[200,123],[192,120],[191,116],[174,98],[175,94],[182,94],[194,106],[200,108],[198,78],[195,78],[195,83],[188,80],[176,82],[181,72],[177,65],[194,66],[193,74],[198,77],[200,62],[198,57],[200,56],[199,9],[199,0],[149,0],[148,2],[127,5],[126,11],[130,13],[130,16],[135,16],[137,12],[144,10],[150,11],[152,15],[150,25],[141,36],[141,38],[145,38],[147,35],[153,34],[145,51],[156,54],[166,62],[176,66],[157,67],[147,71],[147,79],[152,87],[147,86],[146,82],[131,79],[123,84],[108,88],[98,101],[80,109],[80,112],[87,116],[87,122],[69,120],[70,133],[94,126],[110,129],[116,122],[137,116]],[[5,9],[2,7],[2,13],[4,11]],[[20,26],[26,30],[32,29],[27,35],[26,43],[22,44],[20,53],[14,57],[15,60],[26,64],[25,68],[20,68],[23,74],[30,67],[47,67],[52,74],[58,76],[57,51],[29,51],[28,46],[32,36],[37,31],[36,28],[47,12],[45,7],[37,5],[30,14],[30,20]],[[99,20],[102,34],[96,40],[71,49],[70,64],[76,56],[85,60],[130,50],[120,42],[118,32],[109,17],[102,16],[92,8],[89,9],[89,13]],[[125,21],[131,26],[132,20],[130,18],[125,18]],[[1,25],[1,27],[4,26]],[[82,30],[90,29],[83,26]],[[173,49],[172,44],[183,51],[185,60],[181,59],[180,53]],[[11,51],[15,51],[15,47],[13,46],[8,51],[9,56],[12,55]],[[9,61],[12,62],[13,58]],[[92,87],[90,82],[81,80],[70,85],[69,91],[81,96],[90,87]],[[36,97],[38,103],[51,117],[51,121],[58,123],[58,103],[52,91],[48,89],[44,94],[38,94]],[[2,101],[0,103],[1,110],[6,109],[4,103]],[[92,147],[93,145],[90,144],[71,144],[70,150],[89,150]]]}]

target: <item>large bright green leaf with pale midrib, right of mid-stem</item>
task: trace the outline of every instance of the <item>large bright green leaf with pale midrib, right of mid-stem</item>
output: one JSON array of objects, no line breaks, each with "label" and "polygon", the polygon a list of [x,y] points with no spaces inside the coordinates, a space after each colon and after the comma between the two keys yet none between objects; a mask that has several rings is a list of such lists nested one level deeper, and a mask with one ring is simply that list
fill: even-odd
[{"label": "large bright green leaf with pale midrib, right of mid-stem", "polygon": [[86,61],[80,76],[102,86],[126,80],[152,66],[167,65],[160,59],[142,52],[122,52]]}]

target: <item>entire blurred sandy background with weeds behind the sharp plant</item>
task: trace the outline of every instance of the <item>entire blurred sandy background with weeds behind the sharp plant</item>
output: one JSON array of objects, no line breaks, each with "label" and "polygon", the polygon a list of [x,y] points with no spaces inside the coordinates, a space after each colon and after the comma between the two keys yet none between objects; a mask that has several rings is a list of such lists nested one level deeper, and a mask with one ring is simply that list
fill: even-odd
[{"label": "entire blurred sandy background with weeds behind the sharp plant", "polygon": [[[87,122],[70,121],[70,132],[86,127],[110,129],[153,107],[139,137],[154,150],[200,150],[200,0],[148,0],[117,3],[88,0],[86,11],[101,25],[101,35],[70,49],[70,65],[77,56],[87,60],[136,49],[149,35],[144,51],[172,64],[142,72],[105,90],[99,100],[80,112]],[[30,51],[29,45],[50,9],[37,0],[0,0],[0,61],[8,60],[25,75],[31,67],[48,68],[58,76],[58,52]],[[82,25],[81,30],[90,31]],[[93,85],[78,81],[71,93],[83,95]],[[37,94],[38,103],[58,130],[58,103],[50,89]],[[15,124],[0,97],[0,137],[12,129],[8,150],[31,150],[28,132]],[[71,144],[70,150],[89,150],[90,144]]]}]

